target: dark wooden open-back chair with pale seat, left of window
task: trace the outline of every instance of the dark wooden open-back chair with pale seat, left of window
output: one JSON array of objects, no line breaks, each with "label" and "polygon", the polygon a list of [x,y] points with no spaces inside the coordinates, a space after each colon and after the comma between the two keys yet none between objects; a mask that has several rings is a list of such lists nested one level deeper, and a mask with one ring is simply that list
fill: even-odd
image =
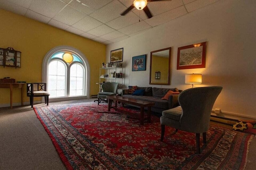
[{"label": "dark wooden open-back chair with pale seat, left of window", "polygon": [[27,96],[30,97],[30,105],[33,108],[34,97],[44,97],[45,104],[49,105],[50,93],[47,92],[46,83],[27,83]]}]

